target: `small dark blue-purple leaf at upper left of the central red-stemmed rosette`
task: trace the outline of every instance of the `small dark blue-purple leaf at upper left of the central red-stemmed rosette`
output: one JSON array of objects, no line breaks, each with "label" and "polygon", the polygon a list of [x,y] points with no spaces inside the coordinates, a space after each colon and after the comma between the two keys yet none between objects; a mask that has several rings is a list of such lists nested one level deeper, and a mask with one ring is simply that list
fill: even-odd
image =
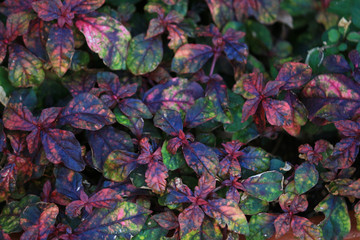
[{"label": "small dark blue-purple leaf at upper left of the central red-stemmed rosette", "polygon": [[174,110],[158,111],[154,116],[154,125],[171,136],[177,136],[183,130],[181,115]]}]

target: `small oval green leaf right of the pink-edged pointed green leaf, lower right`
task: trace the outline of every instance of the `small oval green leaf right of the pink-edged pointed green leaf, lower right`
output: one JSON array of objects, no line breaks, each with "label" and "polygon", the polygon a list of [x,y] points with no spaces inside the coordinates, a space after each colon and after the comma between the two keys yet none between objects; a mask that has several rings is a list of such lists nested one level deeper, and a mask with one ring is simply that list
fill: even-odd
[{"label": "small oval green leaf right of the pink-edged pointed green leaf, lower right", "polygon": [[303,194],[317,184],[319,173],[314,164],[304,162],[295,170],[294,180],[296,192]]}]

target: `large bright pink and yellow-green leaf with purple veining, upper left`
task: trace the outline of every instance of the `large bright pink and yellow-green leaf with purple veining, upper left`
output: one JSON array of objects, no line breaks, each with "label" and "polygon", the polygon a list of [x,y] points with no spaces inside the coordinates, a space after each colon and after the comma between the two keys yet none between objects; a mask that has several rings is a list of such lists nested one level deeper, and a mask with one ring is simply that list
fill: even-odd
[{"label": "large bright pink and yellow-green leaf with purple veining, upper left", "polygon": [[118,21],[110,16],[82,16],[76,27],[85,35],[89,48],[99,54],[112,70],[126,68],[127,48],[131,35]]}]

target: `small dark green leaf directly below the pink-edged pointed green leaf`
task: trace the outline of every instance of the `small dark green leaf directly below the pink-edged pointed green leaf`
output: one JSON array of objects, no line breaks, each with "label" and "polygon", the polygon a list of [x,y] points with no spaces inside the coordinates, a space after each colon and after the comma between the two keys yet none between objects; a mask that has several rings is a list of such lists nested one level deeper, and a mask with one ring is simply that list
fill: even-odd
[{"label": "small dark green leaf directly below the pink-edged pointed green leaf", "polygon": [[269,203],[243,193],[240,198],[239,207],[245,215],[254,215],[265,212],[269,207]]}]

